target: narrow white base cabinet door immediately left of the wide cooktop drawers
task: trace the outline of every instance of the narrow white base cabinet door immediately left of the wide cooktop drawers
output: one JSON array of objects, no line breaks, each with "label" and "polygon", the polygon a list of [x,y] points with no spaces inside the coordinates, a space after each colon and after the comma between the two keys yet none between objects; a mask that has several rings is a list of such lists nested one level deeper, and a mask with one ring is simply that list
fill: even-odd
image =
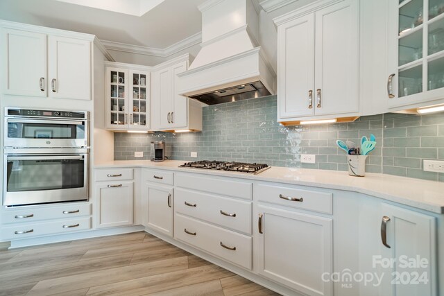
[{"label": "narrow white base cabinet door immediately left of the wide cooktop drawers", "polygon": [[145,182],[142,192],[142,225],[172,237],[173,189]]}]

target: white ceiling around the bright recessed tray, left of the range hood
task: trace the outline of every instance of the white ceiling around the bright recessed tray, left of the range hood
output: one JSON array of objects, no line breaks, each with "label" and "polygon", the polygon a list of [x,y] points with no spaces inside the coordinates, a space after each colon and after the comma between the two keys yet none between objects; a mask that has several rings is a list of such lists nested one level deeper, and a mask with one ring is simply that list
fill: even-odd
[{"label": "white ceiling around the bright recessed tray, left of the range hood", "polygon": [[204,1],[164,0],[138,17],[56,0],[0,0],[0,19],[90,33],[101,40],[165,49],[201,31],[201,15],[197,6]]}]

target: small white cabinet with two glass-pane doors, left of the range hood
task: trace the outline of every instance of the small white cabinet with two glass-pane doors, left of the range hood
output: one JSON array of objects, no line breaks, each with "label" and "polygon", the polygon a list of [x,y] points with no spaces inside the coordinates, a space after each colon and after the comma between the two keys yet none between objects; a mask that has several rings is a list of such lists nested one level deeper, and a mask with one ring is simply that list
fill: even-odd
[{"label": "small white cabinet with two glass-pane doors, left of the range hood", "polygon": [[150,73],[106,67],[106,127],[110,130],[148,130]]}]

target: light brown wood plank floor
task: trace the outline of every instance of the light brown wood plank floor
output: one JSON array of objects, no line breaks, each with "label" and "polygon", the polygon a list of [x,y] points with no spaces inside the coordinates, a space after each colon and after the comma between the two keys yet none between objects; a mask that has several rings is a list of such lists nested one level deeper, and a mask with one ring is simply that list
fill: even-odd
[{"label": "light brown wood plank floor", "polygon": [[0,295],[278,295],[145,232],[0,251]]}]

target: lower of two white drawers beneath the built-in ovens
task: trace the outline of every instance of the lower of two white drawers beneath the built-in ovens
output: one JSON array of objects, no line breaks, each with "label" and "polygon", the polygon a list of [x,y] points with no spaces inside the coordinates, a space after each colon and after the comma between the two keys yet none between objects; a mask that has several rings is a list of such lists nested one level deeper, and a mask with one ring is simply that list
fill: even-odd
[{"label": "lower of two white drawers beneath the built-in ovens", "polygon": [[60,219],[44,223],[21,223],[3,227],[1,240],[15,240],[49,234],[65,234],[91,228],[91,218]]}]

